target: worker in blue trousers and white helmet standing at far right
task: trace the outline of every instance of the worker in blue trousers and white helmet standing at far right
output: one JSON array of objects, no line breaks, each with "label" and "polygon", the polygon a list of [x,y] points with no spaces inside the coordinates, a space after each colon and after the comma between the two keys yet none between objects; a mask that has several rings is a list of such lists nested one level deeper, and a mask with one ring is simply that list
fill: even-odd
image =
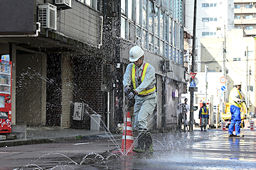
[{"label": "worker in blue trousers and white helmet standing at far right", "polygon": [[[242,82],[235,81],[234,87],[230,91],[229,95],[229,103],[230,103],[230,113],[231,113],[231,121],[228,126],[228,136],[229,137],[243,137],[244,135],[240,135],[240,123],[241,123],[241,115],[240,108],[242,107],[242,102],[245,102],[242,99],[242,95],[240,94]],[[233,134],[235,125],[235,135]]]}]

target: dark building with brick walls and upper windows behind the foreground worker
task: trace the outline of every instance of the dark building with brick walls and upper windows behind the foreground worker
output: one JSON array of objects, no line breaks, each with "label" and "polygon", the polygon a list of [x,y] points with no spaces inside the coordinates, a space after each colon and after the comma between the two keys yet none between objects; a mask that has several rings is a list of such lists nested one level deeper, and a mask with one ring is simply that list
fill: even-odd
[{"label": "dark building with brick walls and upper windows behind the foreground worker", "polygon": [[[13,62],[13,125],[90,129],[97,113],[101,127],[114,131],[124,121],[129,49],[140,45],[156,69],[149,128],[176,128],[174,108],[187,79],[182,0],[1,2],[0,53]],[[81,120],[73,120],[76,103],[85,104]]]}]

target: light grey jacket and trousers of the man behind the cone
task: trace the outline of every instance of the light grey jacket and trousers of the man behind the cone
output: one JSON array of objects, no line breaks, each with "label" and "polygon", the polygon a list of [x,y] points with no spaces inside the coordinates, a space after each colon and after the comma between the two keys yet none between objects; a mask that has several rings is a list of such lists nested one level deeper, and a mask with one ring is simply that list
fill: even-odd
[{"label": "light grey jacket and trousers of the man behind the cone", "polygon": [[[137,86],[135,91],[137,91],[138,95],[135,96],[134,104],[134,128],[138,129],[147,129],[147,119],[149,115],[154,112],[154,108],[156,107],[156,91],[152,91],[144,96],[139,95],[144,89],[152,89],[156,84],[155,70],[151,64],[147,67],[144,81],[142,81],[142,72],[145,63],[146,62],[143,62],[139,68],[137,66],[135,67],[135,81]],[[128,64],[124,73],[124,86],[132,84],[132,65],[133,63]]]}]

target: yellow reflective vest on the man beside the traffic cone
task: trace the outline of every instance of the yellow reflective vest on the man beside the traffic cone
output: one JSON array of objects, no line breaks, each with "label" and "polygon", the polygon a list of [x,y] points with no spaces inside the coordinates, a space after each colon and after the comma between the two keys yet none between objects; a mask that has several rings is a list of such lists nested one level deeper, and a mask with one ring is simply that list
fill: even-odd
[{"label": "yellow reflective vest on the man beside the traffic cone", "polygon": [[[135,64],[132,65],[132,84],[133,84],[134,89],[137,88],[136,81],[135,81],[135,72],[136,72],[135,66],[136,66]],[[149,63],[144,64],[143,71],[142,71],[142,81],[144,81],[144,79],[145,79],[146,69],[148,66],[149,66]],[[147,95],[155,90],[156,90],[156,86],[154,86],[152,89],[148,89],[148,90],[144,89],[144,91],[139,92],[139,94]]]}]

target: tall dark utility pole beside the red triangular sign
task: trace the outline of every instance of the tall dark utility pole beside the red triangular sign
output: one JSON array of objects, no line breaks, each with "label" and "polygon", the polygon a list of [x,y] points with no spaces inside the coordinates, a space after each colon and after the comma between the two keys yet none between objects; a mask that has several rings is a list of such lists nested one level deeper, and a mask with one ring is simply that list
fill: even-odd
[{"label": "tall dark utility pole beside the red triangular sign", "polygon": [[[193,47],[192,47],[192,64],[191,72],[194,72],[195,65],[195,49],[196,49],[196,0],[194,0],[194,12],[193,12]],[[189,120],[189,132],[193,132],[193,90],[191,90],[191,104],[190,104],[190,120]]]}]

